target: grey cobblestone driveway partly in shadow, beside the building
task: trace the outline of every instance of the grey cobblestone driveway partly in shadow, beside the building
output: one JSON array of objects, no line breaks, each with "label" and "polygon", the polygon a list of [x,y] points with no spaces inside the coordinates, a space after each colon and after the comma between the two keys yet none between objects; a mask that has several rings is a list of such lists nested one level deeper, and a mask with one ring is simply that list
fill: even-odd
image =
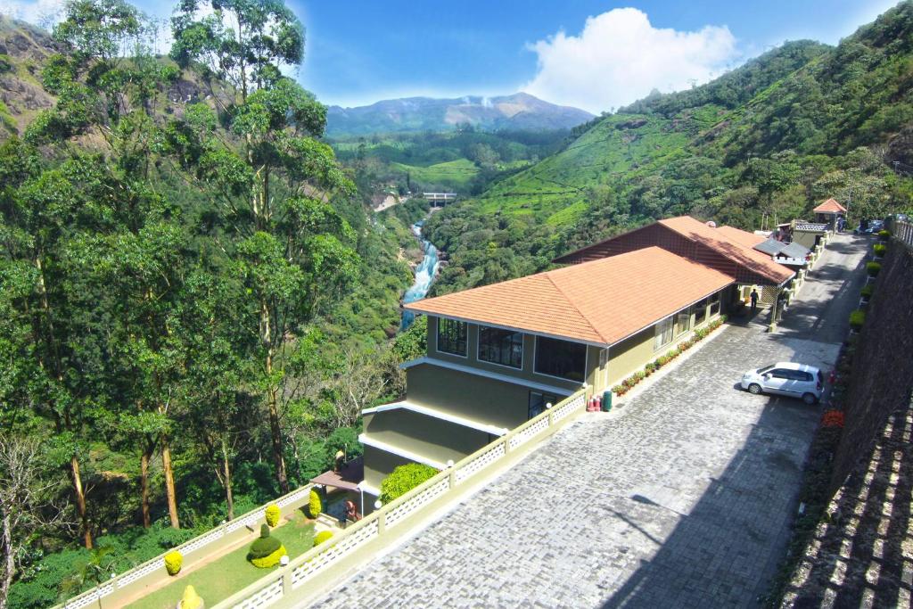
[{"label": "grey cobblestone driveway partly in shadow, beside the building", "polygon": [[[616,413],[565,427],[313,606],[758,604],[789,538],[821,406],[735,383],[767,362],[834,361],[858,293],[845,279],[865,243],[835,245],[784,331],[727,327]],[[841,319],[823,320],[825,309]]]}]

